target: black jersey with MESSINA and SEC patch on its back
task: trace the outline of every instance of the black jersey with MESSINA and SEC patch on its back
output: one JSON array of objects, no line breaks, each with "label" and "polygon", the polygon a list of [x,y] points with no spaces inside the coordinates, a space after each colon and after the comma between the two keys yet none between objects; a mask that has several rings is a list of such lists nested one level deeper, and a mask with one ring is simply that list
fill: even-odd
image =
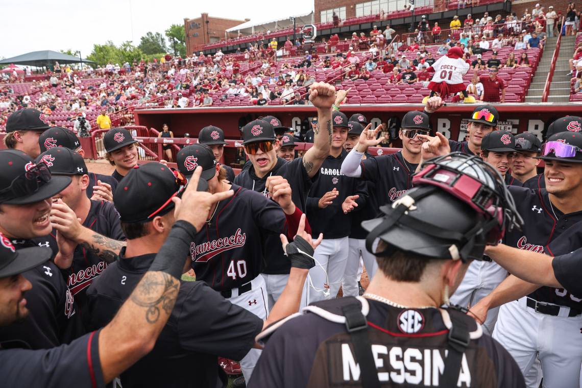
[{"label": "black jersey with MESSINA and SEC patch on its back", "polygon": [[[325,307],[336,304],[338,301],[333,300],[317,306],[329,314],[330,309]],[[440,387],[448,346],[449,312],[437,308],[396,308],[377,301],[367,304],[370,307],[367,330],[382,387]],[[249,388],[361,386],[360,368],[345,323],[322,318],[314,306],[308,306],[304,312],[288,319],[268,338]],[[459,386],[525,387],[511,355],[498,342],[483,335],[473,319],[463,318],[469,325],[471,340],[463,354]]]}]

